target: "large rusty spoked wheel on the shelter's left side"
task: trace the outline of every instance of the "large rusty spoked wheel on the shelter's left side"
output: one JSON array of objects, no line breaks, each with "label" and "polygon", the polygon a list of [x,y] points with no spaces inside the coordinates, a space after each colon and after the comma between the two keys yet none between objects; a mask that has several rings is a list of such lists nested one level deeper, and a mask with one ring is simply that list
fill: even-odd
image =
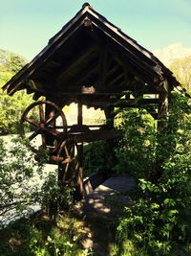
[{"label": "large rusty spoked wheel on the shelter's left side", "polygon": [[[57,126],[57,121],[61,126]],[[32,103],[21,117],[21,135],[27,139],[33,152],[48,149],[53,154],[67,135],[66,117],[50,101]]]}]

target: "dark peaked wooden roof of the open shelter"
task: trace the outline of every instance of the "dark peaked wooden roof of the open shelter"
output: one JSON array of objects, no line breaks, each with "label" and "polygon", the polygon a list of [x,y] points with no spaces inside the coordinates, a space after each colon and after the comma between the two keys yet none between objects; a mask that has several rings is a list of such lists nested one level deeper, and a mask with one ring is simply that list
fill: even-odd
[{"label": "dark peaked wooden roof of the open shelter", "polygon": [[158,58],[85,3],[3,89],[10,95],[26,89],[34,99],[46,96],[104,108],[130,90],[137,97],[177,84]]}]

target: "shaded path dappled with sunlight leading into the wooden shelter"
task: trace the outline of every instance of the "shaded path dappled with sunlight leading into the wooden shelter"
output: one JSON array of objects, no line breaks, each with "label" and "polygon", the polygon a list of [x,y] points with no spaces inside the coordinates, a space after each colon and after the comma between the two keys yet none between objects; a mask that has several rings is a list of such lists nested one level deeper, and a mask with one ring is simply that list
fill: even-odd
[{"label": "shaded path dappled with sunlight leading into the wooden shelter", "polygon": [[128,175],[112,176],[80,202],[84,222],[90,230],[81,244],[84,248],[92,248],[94,256],[113,255],[115,220],[123,214],[124,206],[131,204],[128,192],[135,187],[135,179]]}]

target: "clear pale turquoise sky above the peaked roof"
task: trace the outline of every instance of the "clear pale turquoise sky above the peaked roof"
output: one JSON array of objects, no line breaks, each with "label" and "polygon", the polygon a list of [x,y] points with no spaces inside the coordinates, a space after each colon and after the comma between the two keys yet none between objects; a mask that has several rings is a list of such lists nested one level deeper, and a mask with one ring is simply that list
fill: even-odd
[{"label": "clear pale turquoise sky above the peaked roof", "polygon": [[[0,49],[31,60],[85,1],[1,0]],[[191,47],[191,0],[92,0],[93,8],[152,51]]]}]

